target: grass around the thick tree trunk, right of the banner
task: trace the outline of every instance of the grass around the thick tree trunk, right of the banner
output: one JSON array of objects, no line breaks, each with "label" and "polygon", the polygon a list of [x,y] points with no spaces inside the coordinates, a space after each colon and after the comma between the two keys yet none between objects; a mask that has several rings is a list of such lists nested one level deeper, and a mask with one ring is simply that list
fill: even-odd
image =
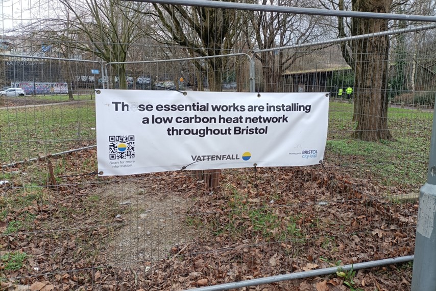
[{"label": "grass around the thick tree trunk, right of the banner", "polygon": [[352,104],[330,103],[326,160],[351,168],[349,173],[355,177],[375,177],[382,185],[421,187],[427,176],[432,113],[389,108],[395,140],[365,142],[351,138],[352,109]]}]

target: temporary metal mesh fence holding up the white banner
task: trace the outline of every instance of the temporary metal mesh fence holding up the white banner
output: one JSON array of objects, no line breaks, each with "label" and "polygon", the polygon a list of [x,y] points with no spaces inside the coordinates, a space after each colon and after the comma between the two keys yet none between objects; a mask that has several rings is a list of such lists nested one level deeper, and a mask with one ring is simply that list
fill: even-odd
[{"label": "temporary metal mesh fence holding up the white banner", "polygon": [[[221,21],[216,13],[225,8],[246,9],[240,13],[265,8],[271,17],[292,12],[291,7],[189,3],[221,5],[208,10],[215,12],[211,15],[216,21]],[[153,9],[143,5],[144,11]],[[178,16],[176,11],[167,16]],[[287,280],[309,276],[324,277],[307,284],[330,279],[343,284],[345,279],[336,275],[341,266],[347,271],[412,260],[417,193],[426,181],[429,160],[436,34],[434,25],[403,27],[395,21],[434,21],[434,17],[383,15],[397,28],[329,38],[331,31],[322,32],[327,20],[354,17],[348,20],[356,25],[364,19],[357,17],[380,14],[298,12],[319,17],[318,34],[301,43],[299,35],[293,42],[261,48],[242,43],[241,37],[235,41],[239,47],[205,56],[180,39],[156,39],[166,36],[162,32],[131,43],[125,61],[103,61],[96,50],[79,49],[79,44],[92,47],[99,41],[49,43],[44,38],[41,46],[34,41],[38,26],[15,31],[4,27],[1,81],[5,85],[67,82],[74,100],[55,92],[0,97],[2,287],[292,289],[298,286]],[[149,16],[146,23],[157,30],[159,23]],[[300,19],[295,33],[303,33],[310,21]],[[255,34],[251,24],[231,25],[239,32],[249,29],[248,36]],[[39,29],[41,35],[44,29]],[[354,83],[358,70],[344,56],[356,48],[353,42],[378,37],[389,37],[391,44],[387,81],[374,94],[389,97],[387,125],[392,139],[362,141],[353,137],[353,105],[373,88]],[[59,57],[61,53],[70,57]],[[213,68],[211,59],[220,66]],[[379,76],[378,69],[375,65],[370,72]],[[216,74],[220,77],[213,79]],[[208,178],[198,172],[98,177],[93,92],[105,87],[329,92],[326,156],[312,167],[213,170],[206,175],[220,178],[214,190],[205,186]],[[347,95],[348,87],[353,92]],[[356,275],[359,280],[352,287],[364,287],[362,280],[367,286],[375,284],[368,272]],[[383,280],[387,283],[377,284],[392,283]],[[405,281],[410,284],[408,277]]]}]

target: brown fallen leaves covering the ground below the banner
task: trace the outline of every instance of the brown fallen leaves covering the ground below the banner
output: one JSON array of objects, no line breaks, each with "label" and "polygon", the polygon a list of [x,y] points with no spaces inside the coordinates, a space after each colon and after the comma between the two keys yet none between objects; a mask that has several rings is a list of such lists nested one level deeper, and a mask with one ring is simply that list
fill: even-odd
[{"label": "brown fallen leaves covering the ground below the banner", "polygon": [[[181,290],[413,254],[417,203],[393,204],[382,195],[392,188],[326,166],[334,174],[321,167],[226,170],[215,192],[187,172],[68,177],[22,207],[8,204],[27,201],[11,181],[0,188],[7,209],[0,251],[29,256],[13,272],[2,262],[1,286]],[[369,290],[408,290],[410,279],[409,264],[353,278]],[[245,289],[347,288],[332,275]]]}]

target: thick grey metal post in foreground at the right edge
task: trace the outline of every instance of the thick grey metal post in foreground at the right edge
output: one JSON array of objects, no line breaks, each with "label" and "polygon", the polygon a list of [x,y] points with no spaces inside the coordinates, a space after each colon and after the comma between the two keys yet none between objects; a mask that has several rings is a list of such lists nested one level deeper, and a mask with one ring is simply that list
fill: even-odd
[{"label": "thick grey metal post in foreground at the right edge", "polygon": [[427,183],[419,194],[411,291],[436,290],[436,106],[433,109]]}]

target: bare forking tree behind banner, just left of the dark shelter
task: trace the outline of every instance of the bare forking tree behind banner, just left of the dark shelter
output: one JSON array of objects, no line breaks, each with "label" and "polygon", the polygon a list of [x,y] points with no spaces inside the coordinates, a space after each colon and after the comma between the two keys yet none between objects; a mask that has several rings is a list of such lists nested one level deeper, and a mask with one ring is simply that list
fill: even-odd
[{"label": "bare forking tree behind banner, just left of the dark shelter", "polygon": [[[311,7],[313,1],[306,0],[256,0],[255,4]],[[321,35],[330,34],[330,24],[325,17],[303,14],[285,14],[276,12],[247,12],[252,30],[246,29],[247,35],[254,35],[250,43],[251,50],[266,50],[285,47],[313,40]],[[248,37],[247,37],[248,38]],[[315,48],[315,49],[321,49]],[[277,86],[281,83],[282,74],[288,70],[298,58],[310,54],[310,51],[263,51],[256,53],[262,66],[264,80],[263,90],[266,92],[281,91]]]}]

